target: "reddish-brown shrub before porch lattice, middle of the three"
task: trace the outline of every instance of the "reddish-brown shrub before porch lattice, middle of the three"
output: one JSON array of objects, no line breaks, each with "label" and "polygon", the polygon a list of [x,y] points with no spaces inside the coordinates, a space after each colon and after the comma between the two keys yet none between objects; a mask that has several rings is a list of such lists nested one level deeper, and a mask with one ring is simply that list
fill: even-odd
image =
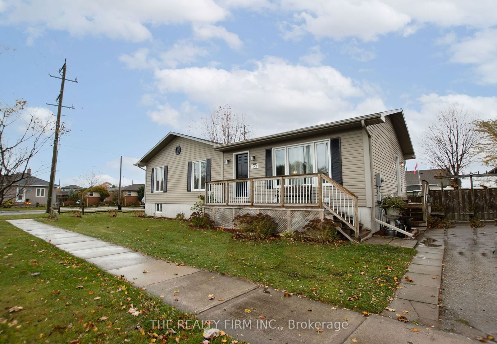
[{"label": "reddish-brown shrub before porch lattice, middle of the three", "polygon": [[278,224],[269,215],[237,215],[233,224],[249,239],[266,239],[278,234]]}]

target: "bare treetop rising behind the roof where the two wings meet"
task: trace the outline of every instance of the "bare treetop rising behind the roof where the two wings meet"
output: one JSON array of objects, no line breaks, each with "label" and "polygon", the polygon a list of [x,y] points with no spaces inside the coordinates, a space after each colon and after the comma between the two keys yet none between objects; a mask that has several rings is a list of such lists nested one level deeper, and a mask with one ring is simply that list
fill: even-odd
[{"label": "bare treetop rising behind the roof where the two wings meet", "polygon": [[219,106],[201,118],[198,130],[210,141],[232,143],[253,138],[245,113],[233,113],[230,105]]}]

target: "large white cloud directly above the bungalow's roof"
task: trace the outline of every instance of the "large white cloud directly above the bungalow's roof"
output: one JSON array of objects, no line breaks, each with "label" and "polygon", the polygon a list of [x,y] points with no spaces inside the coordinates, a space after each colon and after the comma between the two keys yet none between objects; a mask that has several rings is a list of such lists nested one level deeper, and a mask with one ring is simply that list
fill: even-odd
[{"label": "large white cloud directly above the bungalow's roof", "polygon": [[[293,65],[275,57],[253,63],[253,70],[157,70],[156,86],[160,92],[184,94],[190,103],[207,108],[228,103],[235,111],[246,112],[260,135],[386,109],[381,99],[370,93],[374,87],[346,78],[330,66]],[[175,110],[169,104],[149,115],[160,124],[173,126],[184,127],[189,120],[183,109]]]}]

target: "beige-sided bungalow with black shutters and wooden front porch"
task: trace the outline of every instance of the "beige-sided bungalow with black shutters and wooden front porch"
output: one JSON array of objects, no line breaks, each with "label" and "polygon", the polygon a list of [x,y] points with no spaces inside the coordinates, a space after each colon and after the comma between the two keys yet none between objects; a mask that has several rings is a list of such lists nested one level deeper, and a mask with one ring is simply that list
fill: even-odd
[{"label": "beige-sided bungalow with black shutters and wooden front porch", "polygon": [[147,215],[189,216],[205,195],[218,226],[262,212],[280,231],[301,230],[333,215],[366,237],[378,229],[377,192],[407,196],[403,166],[414,158],[398,109],[230,144],[170,132],[135,165],[147,168]]}]

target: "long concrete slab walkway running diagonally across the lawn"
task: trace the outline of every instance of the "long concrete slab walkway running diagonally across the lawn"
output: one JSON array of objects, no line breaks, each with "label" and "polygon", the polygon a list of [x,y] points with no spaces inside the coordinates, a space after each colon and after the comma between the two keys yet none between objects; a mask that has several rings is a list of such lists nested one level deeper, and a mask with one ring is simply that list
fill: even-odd
[{"label": "long concrete slab walkway running diagonally across the lawn", "polygon": [[[285,297],[281,291],[264,290],[240,279],[151,258],[35,220],[8,222],[103,270],[123,275],[153,295],[163,295],[164,302],[182,311],[213,320],[212,326],[249,343],[470,342],[465,337],[382,316],[366,318],[305,298]],[[209,300],[209,294],[214,295],[214,300]]]}]

